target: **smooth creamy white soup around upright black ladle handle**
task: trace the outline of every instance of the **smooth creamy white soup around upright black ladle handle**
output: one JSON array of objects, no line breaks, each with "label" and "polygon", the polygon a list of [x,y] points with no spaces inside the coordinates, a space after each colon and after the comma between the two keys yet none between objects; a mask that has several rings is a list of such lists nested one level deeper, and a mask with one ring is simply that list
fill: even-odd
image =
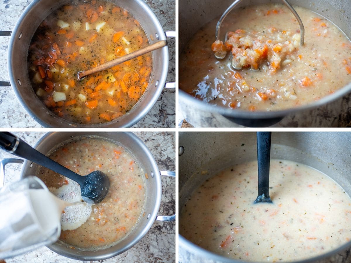
[{"label": "smooth creamy white soup around upright black ladle handle", "polygon": [[304,164],[271,160],[270,203],[257,197],[257,162],[221,171],[194,190],[179,233],[216,254],[244,261],[296,261],[350,241],[351,200]]}]

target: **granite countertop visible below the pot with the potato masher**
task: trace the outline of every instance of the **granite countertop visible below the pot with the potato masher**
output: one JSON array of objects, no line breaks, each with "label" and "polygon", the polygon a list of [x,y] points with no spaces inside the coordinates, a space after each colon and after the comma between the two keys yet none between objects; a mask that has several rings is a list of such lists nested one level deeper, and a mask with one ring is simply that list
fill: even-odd
[{"label": "granite countertop visible below the pot with the potato masher", "polygon": [[[183,120],[190,124],[188,127],[244,127],[220,114],[199,110],[182,101],[179,101],[179,113],[179,127]],[[351,127],[351,94],[317,109],[287,115],[270,127]]]}]

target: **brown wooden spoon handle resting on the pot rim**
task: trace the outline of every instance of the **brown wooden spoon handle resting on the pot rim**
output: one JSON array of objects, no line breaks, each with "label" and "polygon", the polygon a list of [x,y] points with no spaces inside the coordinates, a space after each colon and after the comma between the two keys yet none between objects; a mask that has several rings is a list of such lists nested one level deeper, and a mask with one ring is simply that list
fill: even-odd
[{"label": "brown wooden spoon handle resting on the pot rim", "polygon": [[90,75],[90,74],[93,74],[93,73],[97,73],[99,71],[102,71],[102,70],[111,68],[113,66],[116,66],[116,65],[118,65],[120,63],[126,62],[128,60],[137,58],[138,56],[144,55],[146,53],[149,53],[149,52],[151,52],[151,51],[153,51],[155,49],[164,47],[166,45],[167,45],[167,41],[166,40],[161,40],[161,41],[158,41],[156,43],[153,43],[150,46],[144,47],[144,48],[139,49],[137,51],[134,51],[134,52],[132,52],[130,54],[127,54],[125,56],[121,56],[118,59],[114,59],[114,60],[108,61],[108,62],[106,62],[104,64],[101,64],[101,65],[95,67],[95,68],[84,70],[84,71],[80,71],[80,72],[78,72],[78,80],[82,79],[83,77],[85,77],[87,75]]}]

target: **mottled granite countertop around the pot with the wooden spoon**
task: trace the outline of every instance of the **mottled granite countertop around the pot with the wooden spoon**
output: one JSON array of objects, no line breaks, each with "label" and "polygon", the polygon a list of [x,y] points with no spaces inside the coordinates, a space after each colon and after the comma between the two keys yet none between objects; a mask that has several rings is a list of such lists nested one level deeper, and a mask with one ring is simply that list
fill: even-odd
[{"label": "mottled granite countertop around the pot with the wooden spoon", "polygon": [[[159,19],[164,31],[176,28],[176,5],[174,0],[144,0]],[[0,30],[12,31],[19,16],[32,0],[1,0]],[[169,67],[167,82],[176,79],[176,41],[167,39],[169,47]],[[7,47],[9,37],[0,38],[0,81],[8,81]],[[133,127],[175,127],[176,92],[164,89],[150,112]],[[0,127],[41,127],[18,102],[11,87],[0,87]]]}]

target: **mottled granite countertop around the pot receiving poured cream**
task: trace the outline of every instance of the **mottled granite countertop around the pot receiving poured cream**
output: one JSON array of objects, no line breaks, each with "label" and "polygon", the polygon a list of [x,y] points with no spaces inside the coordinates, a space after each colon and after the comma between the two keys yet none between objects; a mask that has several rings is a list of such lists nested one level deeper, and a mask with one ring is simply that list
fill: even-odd
[{"label": "mottled granite countertop around the pot receiving poured cream", "polygon": [[[42,137],[44,132],[14,132],[31,146]],[[175,170],[175,133],[174,132],[135,132],[153,154],[160,170]],[[14,155],[0,151],[0,159],[13,158]],[[6,166],[5,184],[19,180],[21,165]],[[171,215],[176,210],[176,181],[162,177],[162,199],[159,215]],[[176,223],[155,221],[147,234],[131,249],[113,258],[94,262],[174,262],[176,253]],[[39,248],[11,259],[10,262],[82,262],[60,256],[46,247]]]}]

